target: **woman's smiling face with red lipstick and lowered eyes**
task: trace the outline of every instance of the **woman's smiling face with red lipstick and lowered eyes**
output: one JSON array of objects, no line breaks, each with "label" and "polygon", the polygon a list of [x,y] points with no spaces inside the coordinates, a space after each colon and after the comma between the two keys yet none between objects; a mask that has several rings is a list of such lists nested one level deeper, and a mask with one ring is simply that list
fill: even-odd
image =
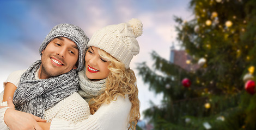
[{"label": "woman's smiling face with red lipstick and lowered eyes", "polygon": [[98,50],[99,48],[90,47],[86,53],[86,76],[90,80],[106,79],[110,72],[107,68],[109,61],[103,59]]}]

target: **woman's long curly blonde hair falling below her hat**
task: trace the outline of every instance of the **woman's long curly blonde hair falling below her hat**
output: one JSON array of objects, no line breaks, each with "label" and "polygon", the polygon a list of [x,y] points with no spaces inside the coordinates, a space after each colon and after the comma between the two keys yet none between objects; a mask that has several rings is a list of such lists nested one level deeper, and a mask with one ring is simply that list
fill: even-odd
[{"label": "woman's long curly blonde hair falling below her hat", "polygon": [[105,91],[89,101],[90,113],[94,114],[102,103],[110,103],[110,101],[117,100],[118,96],[125,98],[127,94],[132,104],[129,115],[129,129],[136,129],[141,114],[139,113],[135,73],[130,68],[126,69],[123,63],[117,61],[105,51],[98,49],[98,53],[104,60],[109,61],[108,69],[110,72],[106,78]]}]

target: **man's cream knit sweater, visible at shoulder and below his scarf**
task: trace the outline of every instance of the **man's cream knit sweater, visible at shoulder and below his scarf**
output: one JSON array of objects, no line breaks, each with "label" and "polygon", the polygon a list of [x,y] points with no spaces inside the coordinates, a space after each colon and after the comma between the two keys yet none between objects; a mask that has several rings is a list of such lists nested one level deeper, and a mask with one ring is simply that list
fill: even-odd
[{"label": "man's cream knit sweater, visible at shoulder and below his scarf", "polygon": [[[11,73],[7,80],[4,81],[3,86],[5,86],[7,82],[18,86],[20,77],[25,71],[26,70],[18,70]],[[3,101],[3,92],[0,94],[0,101]],[[89,115],[90,110],[88,103],[78,93],[70,95],[68,98],[58,102],[57,105],[45,110],[45,120],[47,120],[47,122],[51,122],[53,118],[58,118],[76,124],[77,122],[87,119]]]}]

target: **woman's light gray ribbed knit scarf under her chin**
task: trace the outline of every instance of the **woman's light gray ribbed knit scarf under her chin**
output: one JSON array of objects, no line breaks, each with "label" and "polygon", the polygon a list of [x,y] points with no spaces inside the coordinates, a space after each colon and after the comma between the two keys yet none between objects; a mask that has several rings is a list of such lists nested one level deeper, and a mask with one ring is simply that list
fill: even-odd
[{"label": "woman's light gray ribbed knit scarf under her chin", "polygon": [[87,102],[95,98],[96,96],[99,96],[103,93],[105,88],[105,82],[106,79],[100,80],[100,81],[91,81],[87,78],[85,70],[81,70],[78,72],[79,77],[79,85],[80,88],[78,90],[78,93],[83,97],[84,100]]}]

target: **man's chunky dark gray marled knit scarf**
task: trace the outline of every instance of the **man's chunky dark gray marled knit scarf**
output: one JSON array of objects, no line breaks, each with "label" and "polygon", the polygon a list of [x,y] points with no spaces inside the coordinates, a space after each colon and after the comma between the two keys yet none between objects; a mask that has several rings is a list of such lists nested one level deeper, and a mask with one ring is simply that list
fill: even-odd
[{"label": "man's chunky dark gray marled knit scarf", "polygon": [[59,76],[36,80],[35,73],[40,64],[41,60],[34,62],[22,74],[20,84],[14,93],[13,103],[18,111],[44,119],[45,109],[77,92],[79,79],[76,70],[72,69]]}]

